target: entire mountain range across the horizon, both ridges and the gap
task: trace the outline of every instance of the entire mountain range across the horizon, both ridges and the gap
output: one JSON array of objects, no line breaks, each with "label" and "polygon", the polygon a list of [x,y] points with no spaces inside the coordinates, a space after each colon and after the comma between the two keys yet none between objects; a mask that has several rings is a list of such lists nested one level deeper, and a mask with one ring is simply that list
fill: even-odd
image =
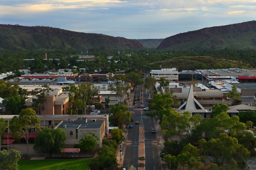
[{"label": "entire mountain range across the horizon, both ridges and the gap", "polygon": [[0,50],[256,49],[256,21],[188,31],[165,39],[127,39],[43,26],[0,24]]}]

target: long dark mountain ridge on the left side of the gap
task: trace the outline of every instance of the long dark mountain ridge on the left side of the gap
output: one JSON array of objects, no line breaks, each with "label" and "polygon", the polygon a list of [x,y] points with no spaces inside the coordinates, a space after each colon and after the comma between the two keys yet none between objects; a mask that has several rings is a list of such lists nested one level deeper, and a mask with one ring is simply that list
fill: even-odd
[{"label": "long dark mountain ridge on the left side of the gap", "polygon": [[0,40],[0,50],[143,48],[140,42],[122,37],[9,24],[0,24]]}]

